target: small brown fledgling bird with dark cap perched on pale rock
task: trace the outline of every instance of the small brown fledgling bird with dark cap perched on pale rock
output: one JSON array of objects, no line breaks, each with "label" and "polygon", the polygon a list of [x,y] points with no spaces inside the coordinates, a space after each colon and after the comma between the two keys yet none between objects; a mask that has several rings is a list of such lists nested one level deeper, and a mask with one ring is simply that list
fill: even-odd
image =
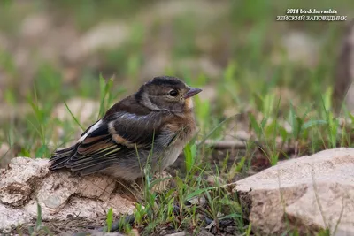
[{"label": "small brown fledgling bird with dark cap perched on pale rock", "polygon": [[127,181],[142,177],[148,164],[153,172],[164,170],[196,132],[192,96],[201,91],[170,76],[148,81],[107,110],[75,145],[57,150],[50,170],[101,172]]}]

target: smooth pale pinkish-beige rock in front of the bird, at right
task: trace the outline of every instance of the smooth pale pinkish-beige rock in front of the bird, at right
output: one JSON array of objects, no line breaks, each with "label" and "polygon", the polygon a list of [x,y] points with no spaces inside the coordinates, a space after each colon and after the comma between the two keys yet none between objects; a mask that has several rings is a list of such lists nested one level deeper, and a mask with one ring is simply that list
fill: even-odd
[{"label": "smooth pale pinkish-beige rock in front of the bird, at right", "polygon": [[304,235],[324,228],[331,235],[353,235],[353,170],[354,148],[328,149],[237,181],[234,190],[259,235],[289,229]]}]

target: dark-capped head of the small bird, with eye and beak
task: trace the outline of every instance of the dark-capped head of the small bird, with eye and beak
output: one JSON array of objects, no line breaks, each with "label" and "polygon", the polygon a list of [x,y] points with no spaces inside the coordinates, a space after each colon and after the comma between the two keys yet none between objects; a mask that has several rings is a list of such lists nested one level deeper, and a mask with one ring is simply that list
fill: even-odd
[{"label": "dark-capped head of the small bird, with eye and beak", "polygon": [[186,112],[193,110],[192,96],[202,92],[176,77],[161,76],[146,82],[135,98],[150,110]]}]

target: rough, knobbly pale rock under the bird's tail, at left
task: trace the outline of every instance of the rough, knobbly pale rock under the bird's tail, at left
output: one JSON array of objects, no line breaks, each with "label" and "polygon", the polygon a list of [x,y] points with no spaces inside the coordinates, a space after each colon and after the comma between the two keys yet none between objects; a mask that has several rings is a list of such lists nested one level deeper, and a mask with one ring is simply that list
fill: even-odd
[{"label": "rough, knobbly pale rock under the bird's tail, at left", "polygon": [[80,214],[84,220],[132,214],[131,202],[116,189],[115,179],[104,175],[73,176],[68,171],[50,171],[48,159],[16,157],[10,168],[0,172],[0,232],[34,221],[37,202],[42,221],[65,221]]}]

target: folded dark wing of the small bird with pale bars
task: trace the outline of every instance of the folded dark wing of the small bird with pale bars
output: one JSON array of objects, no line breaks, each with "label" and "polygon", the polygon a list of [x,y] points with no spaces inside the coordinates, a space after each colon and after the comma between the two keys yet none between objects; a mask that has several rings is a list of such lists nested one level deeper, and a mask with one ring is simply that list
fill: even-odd
[{"label": "folded dark wing of the small bird with pale bars", "polygon": [[161,133],[161,122],[161,114],[117,112],[98,121],[81,136],[75,154],[65,166],[89,174],[119,164],[136,154],[136,149],[150,148]]}]

